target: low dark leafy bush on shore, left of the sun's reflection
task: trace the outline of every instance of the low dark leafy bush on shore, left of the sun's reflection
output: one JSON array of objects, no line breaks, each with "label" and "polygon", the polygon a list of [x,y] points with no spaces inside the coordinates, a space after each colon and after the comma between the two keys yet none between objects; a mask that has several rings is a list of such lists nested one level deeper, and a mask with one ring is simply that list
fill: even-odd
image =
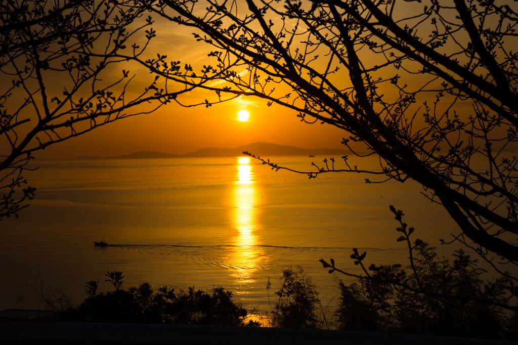
[{"label": "low dark leafy bush on shore, left of the sun's reflection", "polygon": [[247,318],[247,310],[235,304],[232,292],[223,287],[210,291],[190,287],[175,292],[167,286],[153,289],[142,283],[124,289],[122,272],[112,271],[106,276],[116,289],[97,294],[98,282],[86,282],[89,296],[78,307],[66,310],[63,320],[242,326]]}]

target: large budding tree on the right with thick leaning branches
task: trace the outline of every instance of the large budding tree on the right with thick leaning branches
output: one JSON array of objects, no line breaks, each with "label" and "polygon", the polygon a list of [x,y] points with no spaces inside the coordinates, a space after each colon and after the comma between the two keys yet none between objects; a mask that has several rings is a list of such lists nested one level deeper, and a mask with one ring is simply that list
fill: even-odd
[{"label": "large budding tree on the right with thick leaning branches", "polygon": [[[455,240],[490,263],[518,263],[518,159],[506,151],[518,141],[514,5],[158,0],[148,9],[207,44],[214,64],[196,78],[218,83],[202,88],[343,129],[344,145],[378,155],[386,178],[422,184],[458,224]],[[324,163],[298,172],[361,170]]]}]

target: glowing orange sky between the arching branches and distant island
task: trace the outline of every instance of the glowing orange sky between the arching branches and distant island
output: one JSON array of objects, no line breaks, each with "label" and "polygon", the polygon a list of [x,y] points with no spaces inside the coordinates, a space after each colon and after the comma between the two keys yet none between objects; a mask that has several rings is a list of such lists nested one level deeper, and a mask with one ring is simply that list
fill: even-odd
[{"label": "glowing orange sky between the arching branches and distant island", "polygon": [[258,102],[250,119],[241,122],[235,104],[210,108],[170,105],[57,143],[36,157],[117,156],[136,151],[182,154],[205,147],[235,148],[266,141],[300,148],[341,148],[343,131],[330,125],[300,122],[294,111]]}]

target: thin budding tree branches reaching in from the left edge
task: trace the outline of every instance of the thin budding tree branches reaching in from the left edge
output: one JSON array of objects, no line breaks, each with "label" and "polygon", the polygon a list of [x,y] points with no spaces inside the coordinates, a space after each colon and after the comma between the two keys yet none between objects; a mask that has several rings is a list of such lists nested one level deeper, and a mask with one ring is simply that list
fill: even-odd
[{"label": "thin budding tree branches reaching in from the left edge", "polygon": [[[195,82],[136,82],[130,72],[156,36],[144,12],[134,0],[0,4],[0,219],[18,217],[34,197],[23,173],[35,168],[27,165],[35,151],[169,103],[184,105],[177,97]],[[155,68],[165,58],[146,61]]]}]

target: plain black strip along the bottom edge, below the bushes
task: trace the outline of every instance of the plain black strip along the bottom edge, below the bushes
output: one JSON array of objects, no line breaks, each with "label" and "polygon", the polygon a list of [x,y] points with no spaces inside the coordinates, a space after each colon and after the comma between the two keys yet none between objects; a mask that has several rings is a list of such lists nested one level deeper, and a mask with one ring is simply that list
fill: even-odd
[{"label": "plain black strip along the bottom edge, below the bushes", "polygon": [[0,344],[175,344],[175,345],[518,345],[516,341],[346,332],[123,323],[0,322]]}]

